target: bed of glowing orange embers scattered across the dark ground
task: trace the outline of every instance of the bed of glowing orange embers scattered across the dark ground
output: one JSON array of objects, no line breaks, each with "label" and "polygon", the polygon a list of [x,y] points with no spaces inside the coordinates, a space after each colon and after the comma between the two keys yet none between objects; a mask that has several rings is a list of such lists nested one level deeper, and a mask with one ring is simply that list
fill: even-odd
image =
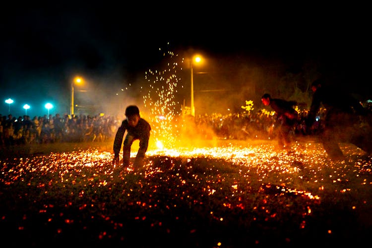
[{"label": "bed of glowing orange embers scattered across the dark ground", "polygon": [[[309,218],[319,215],[322,201],[329,204],[335,195],[358,197],[347,201],[350,205],[344,208],[350,211],[368,208],[369,195],[360,194],[360,187],[365,187],[364,192],[371,191],[372,162],[356,148],[344,146],[347,160],[332,162],[320,144],[310,142],[295,143],[289,154],[276,150],[275,141],[218,141],[217,146],[214,141],[204,142],[204,146],[201,141],[195,142],[198,146],[194,148],[161,149],[152,145],[139,171],[132,164],[114,168],[112,152],[98,150],[4,159],[0,192],[5,187],[27,185],[18,192],[19,200],[32,194],[34,214],[42,215],[42,225],[54,227],[55,234],[65,234],[67,228],[82,222],[96,221],[98,226],[106,222],[105,230],[97,233],[98,240],[119,235],[125,241],[130,237],[125,223],[133,221],[147,223],[151,230],[172,233],[173,225],[185,218],[184,210],[180,215],[179,209],[185,208],[199,209],[205,213],[203,218],[221,225],[229,225],[232,213],[240,213],[248,229],[254,223],[280,223],[290,213],[291,223],[298,230],[309,229]],[[133,151],[131,160],[135,155]],[[112,215],[112,208],[122,212],[118,207],[129,211],[124,223],[121,217]],[[70,208],[78,212],[71,214]],[[169,216],[175,223],[157,217],[159,211],[173,213]],[[21,217],[17,228],[27,231],[29,218]],[[11,215],[4,214],[2,221],[8,218]],[[91,227],[84,225],[81,231],[87,228]],[[335,227],[322,228],[319,232],[335,233]],[[199,232],[193,226],[186,231],[189,235]],[[290,242],[295,238],[283,239]],[[220,243],[219,235],[213,242],[217,246],[229,243],[223,240]]]}]

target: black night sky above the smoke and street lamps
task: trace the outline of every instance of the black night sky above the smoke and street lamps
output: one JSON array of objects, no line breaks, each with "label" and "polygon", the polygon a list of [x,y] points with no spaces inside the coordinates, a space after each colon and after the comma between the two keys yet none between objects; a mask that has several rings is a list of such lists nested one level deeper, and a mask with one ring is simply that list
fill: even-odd
[{"label": "black night sky above the smoke and street lamps", "polygon": [[115,92],[158,63],[158,48],[167,42],[177,51],[203,51],[219,64],[225,58],[275,61],[295,72],[315,60],[322,73],[371,92],[364,86],[370,84],[371,20],[363,6],[180,4],[185,5],[64,1],[3,7],[0,114],[8,114],[9,97],[16,101],[13,115],[23,115],[21,106],[28,102],[35,106],[30,115],[45,114],[40,112],[46,101],[59,106],[54,112],[68,112],[76,74]]}]

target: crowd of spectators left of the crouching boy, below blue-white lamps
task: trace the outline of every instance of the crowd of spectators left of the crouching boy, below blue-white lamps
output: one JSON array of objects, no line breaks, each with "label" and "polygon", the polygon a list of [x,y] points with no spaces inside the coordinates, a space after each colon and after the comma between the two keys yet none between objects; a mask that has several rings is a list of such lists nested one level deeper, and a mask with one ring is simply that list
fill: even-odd
[{"label": "crowd of spectators left of the crouching boy, below blue-white lamps", "polygon": [[115,136],[120,120],[113,116],[44,115],[30,119],[0,115],[0,145],[56,142],[102,142]]}]

